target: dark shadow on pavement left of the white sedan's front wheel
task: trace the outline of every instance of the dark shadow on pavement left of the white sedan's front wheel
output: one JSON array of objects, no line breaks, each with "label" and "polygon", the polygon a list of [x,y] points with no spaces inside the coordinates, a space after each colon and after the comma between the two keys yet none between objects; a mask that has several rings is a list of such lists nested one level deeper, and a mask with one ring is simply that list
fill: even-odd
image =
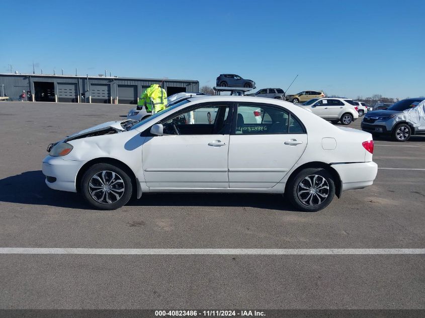
[{"label": "dark shadow on pavement left of the white sedan's front wheel", "polygon": [[27,171],[0,180],[0,202],[86,209],[76,193],[50,189],[40,170]]}]

